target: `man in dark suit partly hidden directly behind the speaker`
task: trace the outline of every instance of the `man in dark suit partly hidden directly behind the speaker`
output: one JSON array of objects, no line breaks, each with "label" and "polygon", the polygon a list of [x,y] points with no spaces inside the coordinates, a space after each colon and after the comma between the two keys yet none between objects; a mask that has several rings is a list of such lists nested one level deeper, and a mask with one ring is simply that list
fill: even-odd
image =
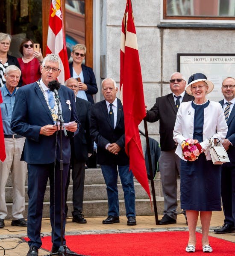
[{"label": "man in dark suit partly hidden directly behind the speaker", "polygon": [[[84,224],[86,219],[82,214],[84,180],[85,180],[85,164],[88,156],[93,152],[93,140],[90,135],[90,112],[91,103],[82,98],[76,97],[79,91],[78,81],[71,77],[65,82],[65,86],[72,89],[76,101],[76,111],[78,119],[81,123],[79,133],[71,138],[71,167],[73,179],[73,222]],[[70,181],[70,172],[68,173],[68,180],[65,188],[65,215],[68,213],[68,206],[66,204],[68,186]]]}]

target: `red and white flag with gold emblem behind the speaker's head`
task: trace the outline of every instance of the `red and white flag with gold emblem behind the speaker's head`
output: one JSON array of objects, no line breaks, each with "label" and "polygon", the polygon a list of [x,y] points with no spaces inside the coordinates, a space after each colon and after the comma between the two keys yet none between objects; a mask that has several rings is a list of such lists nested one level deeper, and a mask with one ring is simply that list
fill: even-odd
[{"label": "red and white flag with gold emblem behind the speaker's head", "polygon": [[62,0],[51,1],[46,54],[59,55],[63,65],[58,80],[60,83],[65,84],[65,81],[70,77],[70,71],[65,44],[61,4]]}]

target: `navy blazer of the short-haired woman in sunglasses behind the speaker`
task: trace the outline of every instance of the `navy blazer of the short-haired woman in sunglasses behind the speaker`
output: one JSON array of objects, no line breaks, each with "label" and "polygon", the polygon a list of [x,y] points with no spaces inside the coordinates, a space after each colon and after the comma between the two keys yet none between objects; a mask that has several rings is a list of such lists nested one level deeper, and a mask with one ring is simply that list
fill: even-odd
[{"label": "navy blazer of the short-haired woman in sunglasses behind the speaker", "polygon": [[[69,64],[70,76],[73,77],[73,62]],[[89,68],[82,64],[82,73],[84,77],[84,83],[87,85],[87,91],[85,91],[88,101],[94,104],[93,94],[98,92],[95,75],[92,68]]]}]

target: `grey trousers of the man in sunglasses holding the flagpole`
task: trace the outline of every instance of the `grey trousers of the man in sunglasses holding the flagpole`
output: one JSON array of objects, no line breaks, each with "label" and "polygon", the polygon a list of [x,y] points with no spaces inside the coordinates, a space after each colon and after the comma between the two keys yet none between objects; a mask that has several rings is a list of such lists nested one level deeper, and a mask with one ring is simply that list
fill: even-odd
[{"label": "grey trousers of the man in sunglasses holding the flagpole", "polygon": [[175,149],[161,151],[159,168],[164,196],[164,215],[177,218],[177,178],[180,175],[180,158]]}]

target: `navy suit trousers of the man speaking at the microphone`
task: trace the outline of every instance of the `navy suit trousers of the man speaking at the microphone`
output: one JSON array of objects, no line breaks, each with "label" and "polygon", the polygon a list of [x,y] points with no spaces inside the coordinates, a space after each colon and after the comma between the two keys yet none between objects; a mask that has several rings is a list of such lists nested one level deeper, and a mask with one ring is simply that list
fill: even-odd
[{"label": "navy suit trousers of the man speaking at the microphone", "polygon": [[[51,164],[28,164],[28,238],[29,247],[41,247],[41,219],[45,190],[48,178],[50,180],[50,223],[52,227],[52,243],[58,247],[61,244],[60,238],[60,222],[61,222],[61,171],[59,161],[56,161],[55,170],[54,163]],[[63,244],[65,244],[65,205],[64,191],[68,177],[69,164],[63,164]],[[55,175],[54,175],[55,171]],[[54,191],[55,184],[55,191]]]}]

